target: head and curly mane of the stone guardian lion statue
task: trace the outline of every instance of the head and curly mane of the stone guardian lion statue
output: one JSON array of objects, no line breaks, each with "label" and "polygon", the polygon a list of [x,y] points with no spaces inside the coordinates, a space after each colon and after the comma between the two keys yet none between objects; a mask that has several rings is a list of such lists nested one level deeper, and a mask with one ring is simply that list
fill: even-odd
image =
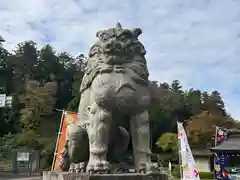
[{"label": "head and curly mane of the stone guardian lion statue", "polygon": [[146,50],[138,40],[140,34],[141,29],[123,29],[120,23],[116,28],[98,31],[98,41],[89,51],[80,92],[89,88],[94,78],[101,73],[127,72],[136,83],[147,85],[149,73],[144,57]]}]

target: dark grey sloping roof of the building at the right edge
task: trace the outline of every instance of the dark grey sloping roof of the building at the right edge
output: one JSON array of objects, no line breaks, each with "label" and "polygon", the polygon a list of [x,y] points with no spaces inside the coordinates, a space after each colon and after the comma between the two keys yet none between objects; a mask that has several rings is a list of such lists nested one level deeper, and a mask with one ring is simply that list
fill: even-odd
[{"label": "dark grey sloping roof of the building at the right edge", "polygon": [[229,132],[228,139],[210,149],[213,152],[240,152],[240,132]]}]

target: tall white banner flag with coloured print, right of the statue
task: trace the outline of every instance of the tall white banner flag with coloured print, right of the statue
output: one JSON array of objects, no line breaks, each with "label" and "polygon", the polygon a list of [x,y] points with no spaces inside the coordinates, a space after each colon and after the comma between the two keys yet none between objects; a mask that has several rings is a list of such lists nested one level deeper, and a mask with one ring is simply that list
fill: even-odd
[{"label": "tall white banner flag with coloured print, right of the statue", "polygon": [[188,144],[187,135],[181,123],[178,125],[179,151],[182,168],[182,180],[200,180],[199,171],[197,170],[192,151]]}]

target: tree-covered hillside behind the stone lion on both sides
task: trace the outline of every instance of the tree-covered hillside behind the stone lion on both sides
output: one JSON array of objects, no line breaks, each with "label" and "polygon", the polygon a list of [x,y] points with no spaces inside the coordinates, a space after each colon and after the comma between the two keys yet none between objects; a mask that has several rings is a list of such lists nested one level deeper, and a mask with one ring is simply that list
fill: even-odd
[{"label": "tree-covered hillside behind the stone lion on both sides", "polygon": [[[0,109],[2,151],[35,148],[51,163],[61,116],[55,109],[77,110],[85,64],[82,54],[55,52],[51,45],[37,49],[32,41],[19,43],[13,52],[0,47],[0,94],[13,96],[12,107]],[[195,147],[211,146],[214,125],[239,126],[217,90],[186,90],[178,80],[158,82],[161,79],[149,86],[154,147],[162,134],[176,133],[177,121],[184,122]]]}]

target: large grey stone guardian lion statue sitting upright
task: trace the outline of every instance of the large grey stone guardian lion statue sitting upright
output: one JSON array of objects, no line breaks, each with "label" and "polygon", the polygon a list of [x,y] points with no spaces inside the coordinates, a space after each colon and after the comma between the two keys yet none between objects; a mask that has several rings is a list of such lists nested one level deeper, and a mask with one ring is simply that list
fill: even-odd
[{"label": "large grey stone guardian lion statue sitting upright", "polygon": [[[148,69],[141,29],[116,28],[97,32],[82,80],[79,124],[67,127],[62,168],[70,171],[108,171],[128,147],[129,133],[120,126],[128,120],[135,168],[151,168],[148,106]],[[128,119],[124,119],[129,117]],[[69,163],[66,163],[69,162]]]}]

